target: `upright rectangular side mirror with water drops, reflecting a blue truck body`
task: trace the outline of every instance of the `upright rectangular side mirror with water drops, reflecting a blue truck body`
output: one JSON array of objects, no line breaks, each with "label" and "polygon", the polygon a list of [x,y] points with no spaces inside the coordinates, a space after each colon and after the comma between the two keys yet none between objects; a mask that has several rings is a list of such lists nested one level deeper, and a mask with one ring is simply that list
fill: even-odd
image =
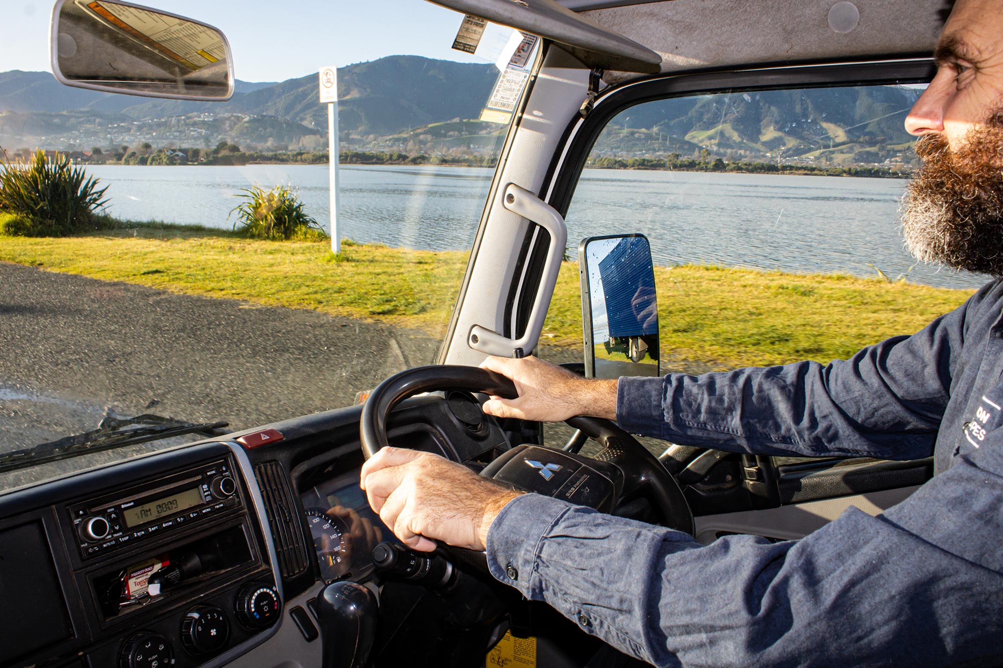
[{"label": "upright rectangular side mirror with water drops, reflecting a blue truck body", "polygon": [[643,235],[589,237],[578,247],[588,378],[658,376],[658,301]]}]

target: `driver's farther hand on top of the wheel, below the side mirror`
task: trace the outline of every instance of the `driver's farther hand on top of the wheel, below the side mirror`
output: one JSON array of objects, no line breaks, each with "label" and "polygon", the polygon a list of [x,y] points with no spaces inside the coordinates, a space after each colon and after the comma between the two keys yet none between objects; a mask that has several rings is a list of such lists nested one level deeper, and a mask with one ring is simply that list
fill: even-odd
[{"label": "driver's farther hand on top of the wheel, below the side mirror", "polygon": [[617,380],[587,379],[533,357],[488,357],[480,368],[495,371],[516,383],[519,398],[492,396],[484,412],[534,422],[563,422],[577,415],[617,418]]}]

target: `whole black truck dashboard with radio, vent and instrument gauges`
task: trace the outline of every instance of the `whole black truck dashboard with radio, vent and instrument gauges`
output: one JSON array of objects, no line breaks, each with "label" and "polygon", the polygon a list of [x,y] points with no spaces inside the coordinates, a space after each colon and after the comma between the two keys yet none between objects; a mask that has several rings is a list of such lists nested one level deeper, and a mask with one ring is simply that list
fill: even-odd
[{"label": "whole black truck dashboard with radio, vent and instrument gauges", "polygon": [[[472,401],[409,399],[388,424],[391,443],[490,460],[507,436],[493,420],[470,423],[460,408]],[[321,590],[376,591],[372,549],[396,542],[359,488],[360,412],[0,489],[0,667],[320,666]],[[397,635],[379,641],[377,665],[399,665],[417,628],[406,618],[434,617],[410,602],[381,607],[381,619],[384,608],[400,619],[385,625]]]}]

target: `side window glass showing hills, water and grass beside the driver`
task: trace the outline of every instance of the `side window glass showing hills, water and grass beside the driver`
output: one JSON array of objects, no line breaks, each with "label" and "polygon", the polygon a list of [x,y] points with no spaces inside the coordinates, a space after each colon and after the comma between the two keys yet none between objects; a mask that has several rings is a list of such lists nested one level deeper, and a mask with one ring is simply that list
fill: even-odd
[{"label": "side window glass showing hills, water and grass beside the driver", "polygon": [[[724,92],[626,109],[567,216],[557,304],[578,304],[578,242],[641,233],[655,262],[662,372],[825,363],[918,331],[985,277],[918,265],[898,209],[917,166],[903,121],[922,86]],[[555,309],[541,354],[581,359]]]}]

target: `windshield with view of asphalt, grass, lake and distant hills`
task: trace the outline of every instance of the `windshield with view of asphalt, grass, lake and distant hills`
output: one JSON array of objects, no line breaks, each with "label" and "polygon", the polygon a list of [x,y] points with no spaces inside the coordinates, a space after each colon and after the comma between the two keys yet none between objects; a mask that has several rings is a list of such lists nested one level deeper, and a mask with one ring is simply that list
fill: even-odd
[{"label": "windshield with view of asphalt, grass, lake and distant hills", "polygon": [[[474,53],[453,50],[460,15],[407,7],[427,31],[412,42],[437,50],[397,55],[391,30],[367,50],[327,56],[342,60],[340,249],[329,239],[316,54],[242,64],[242,52],[260,50],[253,26],[200,16],[234,45],[230,102],[0,73],[0,86],[44,93],[0,90],[0,158],[19,165],[6,171],[57,164],[59,151],[67,170],[97,180],[100,201],[86,229],[69,231],[56,220],[39,232],[0,206],[0,454],[108,417],[245,429],[351,405],[396,371],[435,361],[512,118],[492,91],[507,72],[518,99],[533,59],[514,76],[522,34],[488,26]],[[382,11],[353,10],[360,21]],[[306,18],[277,19],[288,36],[270,49],[295,52]],[[45,40],[44,22],[34,27]],[[16,181],[2,183],[13,191]]]}]

